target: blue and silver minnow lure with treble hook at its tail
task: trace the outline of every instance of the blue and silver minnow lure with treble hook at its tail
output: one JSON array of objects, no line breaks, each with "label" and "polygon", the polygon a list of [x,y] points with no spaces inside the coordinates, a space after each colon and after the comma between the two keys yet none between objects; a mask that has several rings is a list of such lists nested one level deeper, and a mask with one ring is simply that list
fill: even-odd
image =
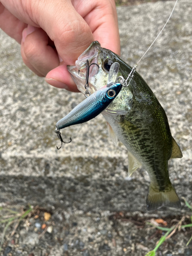
[{"label": "blue and silver minnow lure with treble hook at its tail", "polygon": [[[113,83],[110,87],[102,87],[79,103],[67,116],[59,120],[56,123],[55,133],[61,141],[61,146],[62,142],[70,143],[71,138],[69,142],[64,142],[60,134],[60,129],[87,122],[98,116],[116,98],[121,88],[121,83]],[[59,148],[57,147],[57,149],[59,150],[61,146]]]}]

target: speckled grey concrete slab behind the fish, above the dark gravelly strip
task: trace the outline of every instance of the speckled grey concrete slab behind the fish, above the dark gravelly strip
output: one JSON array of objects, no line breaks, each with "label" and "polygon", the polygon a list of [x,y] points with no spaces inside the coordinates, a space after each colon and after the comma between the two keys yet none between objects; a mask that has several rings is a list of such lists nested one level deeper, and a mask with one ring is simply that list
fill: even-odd
[{"label": "speckled grey concrete slab behind the fish, above the dark gravelly strip", "polygon": [[[161,30],[174,3],[117,8],[122,58],[131,66]],[[169,161],[169,174],[179,197],[189,202],[192,201],[191,11],[189,1],[178,2],[167,27],[138,66],[138,72],[165,109],[172,134],[180,144],[183,158]],[[148,176],[141,169],[132,179],[125,180],[126,149],[120,142],[115,147],[110,141],[102,116],[63,130],[63,137],[66,140],[72,137],[72,142],[57,151],[55,123],[82,101],[83,95],[53,88],[43,78],[36,77],[22,62],[19,45],[2,31],[0,45],[1,205],[38,204],[69,211],[74,218],[78,218],[76,210],[124,210],[133,216],[142,212],[148,217],[187,212],[182,203],[181,210],[164,208],[147,213]],[[113,253],[109,255],[117,255]]]}]

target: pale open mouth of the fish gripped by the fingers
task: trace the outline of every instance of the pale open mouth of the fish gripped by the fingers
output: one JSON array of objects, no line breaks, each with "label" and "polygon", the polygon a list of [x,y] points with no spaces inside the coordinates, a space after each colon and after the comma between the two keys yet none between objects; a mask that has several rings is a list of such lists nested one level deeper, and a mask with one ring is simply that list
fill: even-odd
[{"label": "pale open mouth of the fish gripped by the fingers", "polygon": [[[100,44],[98,41],[92,42],[92,44],[88,47],[86,51],[84,51],[78,59],[75,61],[75,66],[67,66],[68,71],[70,72],[74,82],[77,85],[77,88],[80,92],[84,94],[85,88],[84,84],[86,83],[86,62],[87,60],[89,61],[89,66],[92,63],[98,63],[98,54],[99,54],[99,49],[101,48]],[[89,70],[89,77],[93,77],[97,75],[99,69],[97,65],[91,65],[90,70]],[[89,91],[91,93],[95,92],[95,88],[93,87],[93,84],[89,82]]]}]

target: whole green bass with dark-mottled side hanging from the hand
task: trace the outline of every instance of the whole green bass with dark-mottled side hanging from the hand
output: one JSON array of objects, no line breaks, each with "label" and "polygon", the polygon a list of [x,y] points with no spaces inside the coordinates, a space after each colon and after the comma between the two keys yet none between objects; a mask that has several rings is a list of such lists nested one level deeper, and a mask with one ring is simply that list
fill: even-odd
[{"label": "whole green bass with dark-mottled side hanging from the hand", "polygon": [[[94,41],[78,57],[75,66],[68,66],[68,71],[82,93],[86,78],[86,60],[99,66],[99,69],[94,66],[90,69],[91,92],[106,84],[114,62],[119,63],[118,76],[124,79],[132,71],[132,67],[120,56]],[[180,199],[169,179],[168,160],[181,158],[182,152],[172,137],[165,111],[137,71],[129,86],[121,89],[102,115],[108,123],[113,141],[116,142],[118,138],[127,148],[128,174],[131,175],[138,167],[143,166],[150,176],[146,197],[147,210],[161,206],[181,207]]]}]

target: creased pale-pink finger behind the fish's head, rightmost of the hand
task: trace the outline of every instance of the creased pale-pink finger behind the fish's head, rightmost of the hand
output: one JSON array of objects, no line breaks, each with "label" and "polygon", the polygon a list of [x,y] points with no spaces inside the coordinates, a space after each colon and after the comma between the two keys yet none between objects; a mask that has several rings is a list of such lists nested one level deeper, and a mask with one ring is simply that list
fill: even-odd
[{"label": "creased pale-pink finger behind the fish's head, rightmost of the hand", "polygon": [[88,0],[81,0],[80,2],[74,2],[76,3],[74,8],[90,26],[94,40],[99,41],[102,47],[120,55],[120,38],[115,1],[93,1],[92,4],[89,4]]}]

